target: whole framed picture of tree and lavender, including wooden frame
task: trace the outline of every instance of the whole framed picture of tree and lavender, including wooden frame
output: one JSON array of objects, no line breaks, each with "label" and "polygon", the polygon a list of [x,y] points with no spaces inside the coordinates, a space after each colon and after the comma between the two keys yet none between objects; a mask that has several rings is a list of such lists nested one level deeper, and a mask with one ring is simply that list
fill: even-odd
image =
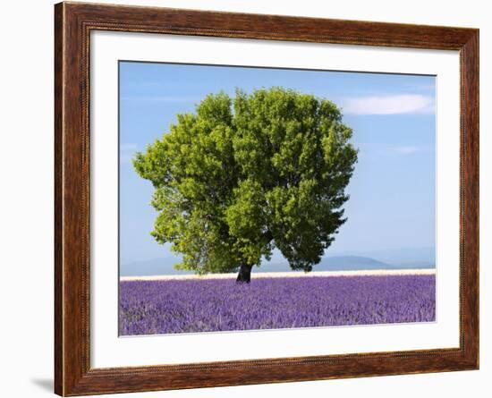
[{"label": "whole framed picture of tree and lavender, including wooden frame", "polygon": [[479,368],[479,30],[55,5],[55,393]]}]

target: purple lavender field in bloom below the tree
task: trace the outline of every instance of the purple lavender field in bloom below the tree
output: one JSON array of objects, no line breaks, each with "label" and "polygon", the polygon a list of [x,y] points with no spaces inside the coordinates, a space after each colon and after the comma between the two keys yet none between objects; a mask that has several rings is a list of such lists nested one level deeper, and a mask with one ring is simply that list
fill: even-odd
[{"label": "purple lavender field in bloom below the tree", "polygon": [[120,335],[429,322],[435,275],[120,282]]}]

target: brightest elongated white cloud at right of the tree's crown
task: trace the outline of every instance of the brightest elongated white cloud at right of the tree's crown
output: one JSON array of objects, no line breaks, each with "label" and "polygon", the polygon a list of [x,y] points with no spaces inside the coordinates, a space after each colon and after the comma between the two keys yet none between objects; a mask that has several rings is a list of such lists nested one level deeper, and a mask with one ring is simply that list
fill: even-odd
[{"label": "brightest elongated white cloud at right of the tree's crown", "polygon": [[432,97],[419,94],[347,98],[344,114],[432,114]]}]

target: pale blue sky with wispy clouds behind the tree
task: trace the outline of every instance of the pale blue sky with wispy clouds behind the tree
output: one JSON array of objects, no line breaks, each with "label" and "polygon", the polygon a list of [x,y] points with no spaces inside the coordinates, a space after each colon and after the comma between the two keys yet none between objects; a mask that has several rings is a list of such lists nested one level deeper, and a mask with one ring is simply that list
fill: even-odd
[{"label": "pale blue sky with wispy clouds behind the tree", "polygon": [[[347,222],[326,254],[435,246],[436,80],[433,76],[120,63],[120,261],[173,256],[150,236],[153,188],[131,157],[208,93],[282,86],[343,108],[359,162]],[[278,260],[276,253],[276,260]]]}]

